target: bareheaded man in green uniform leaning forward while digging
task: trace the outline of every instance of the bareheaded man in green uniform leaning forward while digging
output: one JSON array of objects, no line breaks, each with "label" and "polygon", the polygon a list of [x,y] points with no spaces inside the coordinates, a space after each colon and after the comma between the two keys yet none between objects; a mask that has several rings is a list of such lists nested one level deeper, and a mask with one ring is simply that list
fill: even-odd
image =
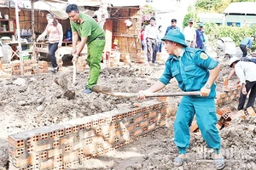
[{"label": "bareheaded man in green uniform leaning forward while digging", "polygon": [[[86,84],[84,93],[90,94],[92,87],[96,85],[101,72],[102,52],[105,47],[105,33],[94,19],[87,14],[79,14],[79,8],[76,4],[70,4],[66,8],[66,13],[70,19],[70,25],[73,32],[73,62],[77,62],[79,54],[87,43],[87,63],[90,67],[90,77]],[[81,38],[79,47],[77,42]]]}]

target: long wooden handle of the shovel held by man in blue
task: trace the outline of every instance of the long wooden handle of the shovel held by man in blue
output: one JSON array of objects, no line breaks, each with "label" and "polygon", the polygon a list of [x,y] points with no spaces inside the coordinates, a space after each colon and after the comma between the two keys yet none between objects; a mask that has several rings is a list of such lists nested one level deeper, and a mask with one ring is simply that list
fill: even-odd
[{"label": "long wooden handle of the shovel held by man in blue", "polygon": [[[137,97],[137,93],[108,93],[116,97]],[[187,95],[200,95],[199,91],[194,92],[175,92],[175,93],[151,93],[145,94],[145,97],[169,97],[169,96],[187,96]]]}]

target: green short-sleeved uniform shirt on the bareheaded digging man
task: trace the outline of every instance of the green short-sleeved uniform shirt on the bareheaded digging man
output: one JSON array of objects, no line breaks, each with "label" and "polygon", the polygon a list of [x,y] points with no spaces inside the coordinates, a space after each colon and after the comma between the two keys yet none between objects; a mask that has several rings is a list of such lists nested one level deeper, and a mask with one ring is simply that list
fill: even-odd
[{"label": "green short-sleeved uniform shirt on the bareheaded digging man", "polygon": [[96,21],[87,14],[79,14],[79,19],[82,18],[82,23],[73,22],[70,20],[72,31],[78,31],[79,37],[88,37],[87,44],[96,39],[96,37],[105,37],[104,30]]}]

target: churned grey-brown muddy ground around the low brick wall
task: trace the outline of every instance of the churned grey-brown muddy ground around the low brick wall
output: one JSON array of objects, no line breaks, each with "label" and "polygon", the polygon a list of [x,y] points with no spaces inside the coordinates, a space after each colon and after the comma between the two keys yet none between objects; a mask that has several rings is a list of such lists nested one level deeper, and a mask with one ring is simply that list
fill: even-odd
[{"label": "churned grey-brown muddy ground around the low brick wall", "polygon": [[[216,81],[217,91],[222,92],[223,77],[229,75],[230,67],[221,63],[221,72]],[[103,68],[98,84],[112,88],[115,92],[136,93],[150,87],[164,71],[164,64],[137,65]],[[121,110],[132,107],[134,103],[145,100],[137,98],[118,98],[105,94],[83,94],[89,68],[77,73],[75,86],[76,98],[67,99],[57,84],[55,77],[67,75],[71,87],[73,67],[71,61],[64,61],[63,71],[57,74],[45,73],[24,77],[0,78],[0,167],[8,169],[9,134],[20,133],[35,127],[67,122],[83,116],[104,111]],[[236,82],[236,77],[230,84]],[[176,80],[172,80],[161,92],[179,92]],[[169,98],[173,111],[181,97]],[[148,98],[152,100],[156,98]],[[224,108],[236,113],[237,99],[228,102]],[[232,120],[229,127],[220,131],[222,151],[226,161],[225,169],[256,169],[256,119],[247,117]],[[215,169],[212,162],[212,150],[207,149],[200,133],[190,133],[188,161],[183,167],[174,167],[172,160],[177,156],[173,142],[173,119],[167,126],[151,135],[114,150],[105,156],[98,156],[84,162],[75,169]]]}]

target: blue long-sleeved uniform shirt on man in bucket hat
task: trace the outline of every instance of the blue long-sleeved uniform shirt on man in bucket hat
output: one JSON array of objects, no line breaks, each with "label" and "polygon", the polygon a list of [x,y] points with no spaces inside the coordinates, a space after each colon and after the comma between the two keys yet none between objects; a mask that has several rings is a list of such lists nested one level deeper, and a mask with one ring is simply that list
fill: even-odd
[{"label": "blue long-sleeved uniform shirt on man in bucket hat", "polygon": [[[209,57],[201,49],[183,48],[179,58],[170,55],[166,60],[166,69],[160,77],[160,82],[168,84],[175,77],[178,87],[185,92],[200,91],[206,84],[210,72],[218,65],[218,61]],[[214,98],[216,85],[212,84],[208,98]]]}]

